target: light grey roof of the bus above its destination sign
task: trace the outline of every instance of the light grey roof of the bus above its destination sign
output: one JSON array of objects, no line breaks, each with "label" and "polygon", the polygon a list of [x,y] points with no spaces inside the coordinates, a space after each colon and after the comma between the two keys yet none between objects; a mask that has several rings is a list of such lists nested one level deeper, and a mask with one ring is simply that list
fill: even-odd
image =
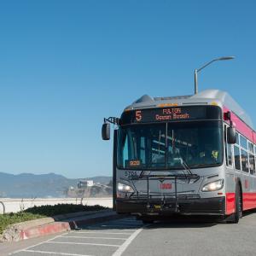
[{"label": "light grey roof of the bus above its destination sign", "polygon": [[[189,106],[189,105],[212,105],[217,104],[221,108],[229,108],[236,115],[253,129],[252,119],[241,108],[241,106],[223,90],[202,90],[192,96],[167,96],[151,97],[144,95],[133,102],[125,109],[158,108],[166,106]],[[254,130],[254,129],[253,129]]]}]

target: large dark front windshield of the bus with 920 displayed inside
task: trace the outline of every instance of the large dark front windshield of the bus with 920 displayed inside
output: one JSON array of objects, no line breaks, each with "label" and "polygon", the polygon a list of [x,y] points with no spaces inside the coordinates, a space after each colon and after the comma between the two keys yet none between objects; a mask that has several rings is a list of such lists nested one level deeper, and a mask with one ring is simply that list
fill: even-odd
[{"label": "large dark front windshield of the bus with 920 displayed inside", "polygon": [[221,121],[189,121],[119,127],[117,166],[156,170],[220,166]]}]

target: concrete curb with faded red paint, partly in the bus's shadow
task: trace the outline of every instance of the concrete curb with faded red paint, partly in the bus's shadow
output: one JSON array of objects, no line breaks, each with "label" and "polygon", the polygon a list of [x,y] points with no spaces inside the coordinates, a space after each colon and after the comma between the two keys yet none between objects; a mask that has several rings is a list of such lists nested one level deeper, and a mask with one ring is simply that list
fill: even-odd
[{"label": "concrete curb with faded red paint, partly in the bus's shadow", "polygon": [[54,218],[38,218],[19,224],[12,224],[3,232],[0,241],[21,241],[38,236],[47,236],[60,232],[78,229],[84,224],[96,224],[99,222],[124,218],[112,210],[93,212],[74,212],[58,215]]}]

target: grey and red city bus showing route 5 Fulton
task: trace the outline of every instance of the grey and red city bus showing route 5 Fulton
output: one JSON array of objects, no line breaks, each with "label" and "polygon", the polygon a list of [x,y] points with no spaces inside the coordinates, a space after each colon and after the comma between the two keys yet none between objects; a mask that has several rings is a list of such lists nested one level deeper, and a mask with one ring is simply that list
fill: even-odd
[{"label": "grey and red city bus showing route 5 Fulton", "polygon": [[113,124],[113,207],[144,223],[159,216],[212,215],[238,223],[256,207],[256,132],[225,91],[144,95]]}]

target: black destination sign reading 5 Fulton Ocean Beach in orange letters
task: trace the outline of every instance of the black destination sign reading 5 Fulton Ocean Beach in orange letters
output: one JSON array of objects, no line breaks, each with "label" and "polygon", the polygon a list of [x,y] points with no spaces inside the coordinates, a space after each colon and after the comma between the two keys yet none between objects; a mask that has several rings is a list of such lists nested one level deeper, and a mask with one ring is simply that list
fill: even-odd
[{"label": "black destination sign reading 5 Fulton Ocean Beach in orange letters", "polygon": [[122,114],[120,125],[195,119],[221,119],[220,108],[216,106],[190,106],[131,110]]}]

